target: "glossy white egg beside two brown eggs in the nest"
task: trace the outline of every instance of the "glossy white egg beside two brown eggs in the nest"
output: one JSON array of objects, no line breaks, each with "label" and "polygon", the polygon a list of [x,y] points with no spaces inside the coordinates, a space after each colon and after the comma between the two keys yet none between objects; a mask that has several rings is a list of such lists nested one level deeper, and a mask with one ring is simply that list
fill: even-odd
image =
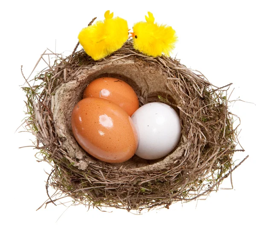
[{"label": "glossy white egg beside two brown eggs in the nest", "polygon": [[138,135],[136,155],[143,159],[159,159],[169,154],[181,136],[180,117],[169,105],[148,103],[131,116]]}]

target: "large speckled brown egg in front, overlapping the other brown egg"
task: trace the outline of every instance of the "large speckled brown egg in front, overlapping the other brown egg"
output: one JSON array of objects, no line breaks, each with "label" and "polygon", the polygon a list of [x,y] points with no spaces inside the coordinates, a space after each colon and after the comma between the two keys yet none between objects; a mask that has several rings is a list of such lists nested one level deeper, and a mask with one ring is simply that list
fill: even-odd
[{"label": "large speckled brown egg in front, overlapping the other brown egg", "polygon": [[115,103],[88,97],[79,101],[71,115],[73,134],[81,147],[104,162],[125,162],[137,149],[131,117]]}]

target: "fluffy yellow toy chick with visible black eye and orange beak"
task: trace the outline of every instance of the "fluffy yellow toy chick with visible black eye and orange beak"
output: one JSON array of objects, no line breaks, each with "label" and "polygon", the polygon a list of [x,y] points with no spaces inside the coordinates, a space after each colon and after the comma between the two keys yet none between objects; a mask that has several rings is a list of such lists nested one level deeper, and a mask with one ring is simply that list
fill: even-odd
[{"label": "fluffy yellow toy chick with visible black eye and orange beak", "polygon": [[148,17],[145,16],[145,19],[147,22],[134,24],[134,32],[131,32],[134,48],[148,56],[157,57],[165,54],[169,57],[177,41],[175,30],[171,26],[154,23],[151,12],[148,12]]}]

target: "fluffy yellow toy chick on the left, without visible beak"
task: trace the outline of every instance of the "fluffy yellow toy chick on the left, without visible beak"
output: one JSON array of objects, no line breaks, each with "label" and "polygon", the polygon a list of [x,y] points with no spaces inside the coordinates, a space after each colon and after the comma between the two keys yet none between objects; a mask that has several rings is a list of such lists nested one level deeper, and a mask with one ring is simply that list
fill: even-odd
[{"label": "fluffy yellow toy chick on the left, without visible beak", "polygon": [[84,51],[93,58],[100,60],[117,51],[128,39],[127,21],[113,18],[113,12],[105,12],[105,20],[83,28],[78,35],[79,43]]}]

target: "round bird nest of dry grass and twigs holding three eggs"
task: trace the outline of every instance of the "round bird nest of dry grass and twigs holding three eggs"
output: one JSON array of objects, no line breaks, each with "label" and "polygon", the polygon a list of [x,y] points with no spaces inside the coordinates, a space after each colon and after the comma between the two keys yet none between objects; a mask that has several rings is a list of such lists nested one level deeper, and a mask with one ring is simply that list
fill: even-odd
[{"label": "round bird nest of dry grass and twigs holding three eggs", "polygon": [[[78,46],[78,45],[77,45]],[[228,110],[227,90],[217,88],[198,71],[170,57],[148,57],[132,41],[97,62],[83,50],[62,58],[26,79],[26,128],[35,137],[36,157],[52,165],[46,183],[49,199],[128,211],[169,208],[211,191],[243,162],[234,165],[237,127]],[[47,55],[49,56],[49,54]],[[115,77],[134,88],[140,106],[149,102],[171,105],[180,116],[182,136],[172,153],[157,160],[134,155],[126,162],[102,162],[87,154],[71,129],[71,112],[84,88],[98,77]],[[90,131],[88,131],[90,132]],[[55,189],[49,194],[48,186]]]}]

